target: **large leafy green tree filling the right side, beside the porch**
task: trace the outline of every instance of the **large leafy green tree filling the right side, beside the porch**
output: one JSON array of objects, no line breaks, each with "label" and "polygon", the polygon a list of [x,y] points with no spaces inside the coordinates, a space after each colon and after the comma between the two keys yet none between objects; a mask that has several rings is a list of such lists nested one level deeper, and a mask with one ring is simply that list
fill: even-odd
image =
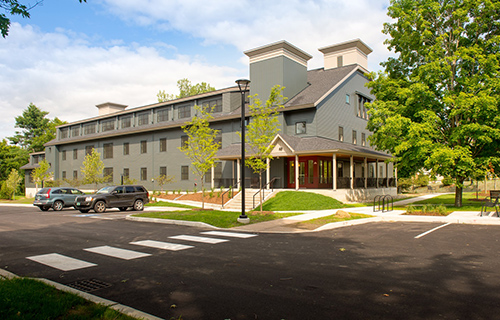
[{"label": "large leafy green tree filling the right side, beside the porch", "polygon": [[500,156],[500,2],[391,0],[388,15],[396,57],[368,84],[371,142],[403,175],[453,178],[461,206],[464,181]]}]

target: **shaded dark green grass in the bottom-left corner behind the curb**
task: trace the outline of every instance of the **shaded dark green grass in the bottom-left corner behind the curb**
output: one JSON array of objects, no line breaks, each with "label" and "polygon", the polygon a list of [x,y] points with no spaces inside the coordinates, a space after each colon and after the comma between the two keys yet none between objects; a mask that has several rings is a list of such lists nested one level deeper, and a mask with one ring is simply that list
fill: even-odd
[{"label": "shaded dark green grass in the bottom-left corner behind the curb", "polygon": [[113,309],[32,279],[0,277],[2,319],[133,320]]}]

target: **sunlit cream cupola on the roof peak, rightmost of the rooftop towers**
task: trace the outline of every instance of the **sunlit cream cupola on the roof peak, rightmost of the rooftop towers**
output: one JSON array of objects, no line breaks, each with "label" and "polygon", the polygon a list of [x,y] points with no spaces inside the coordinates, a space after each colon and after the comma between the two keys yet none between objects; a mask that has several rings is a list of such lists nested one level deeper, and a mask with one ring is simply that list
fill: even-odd
[{"label": "sunlit cream cupola on the roof peak, rightmost of the rooftop towers", "polygon": [[368,71],[368,55],[373,51],[360,39],[319,48],[325,59],[325,70],[357,64]]}]

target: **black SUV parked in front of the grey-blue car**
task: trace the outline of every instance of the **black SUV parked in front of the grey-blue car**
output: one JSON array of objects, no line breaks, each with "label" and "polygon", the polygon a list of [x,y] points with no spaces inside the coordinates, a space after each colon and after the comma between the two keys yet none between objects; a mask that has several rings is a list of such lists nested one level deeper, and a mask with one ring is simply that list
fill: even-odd
[{"label": "black SUV parked in front of the grey-blue car", "polygon": [[96,194],[76,198],[75,208],[82,213],[87,213],[90,209],[103,213],[106,208],[118,208],[120,211],[132,208],[140,211],[148,202],[148,191],[143,186],[111,186],[102,188]]}]

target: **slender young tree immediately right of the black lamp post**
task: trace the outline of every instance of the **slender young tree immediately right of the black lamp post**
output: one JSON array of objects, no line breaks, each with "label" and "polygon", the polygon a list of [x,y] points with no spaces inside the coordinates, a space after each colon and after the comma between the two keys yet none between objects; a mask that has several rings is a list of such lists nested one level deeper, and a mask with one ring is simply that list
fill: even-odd
[{"label": "slender young tree immediately right of the black lamp post", "polygon": [[[272,146],[270,145],[276,134],[279,132],[278,109],[283,107],[283,95],[281,92],[284,87],[276,85],[271,88],[269,99],[262,105],[257,95],[251,97],[252,104],[250,108],[251,121],[247,126],[246,143],[251,154],[245,162],[255,173],[259,174],[259,193],[260,193],[260,211],[262,211],[262,173],[267,169],[267,162],[272,160]],[[241,134],[241,133],[240,133]]]}]

